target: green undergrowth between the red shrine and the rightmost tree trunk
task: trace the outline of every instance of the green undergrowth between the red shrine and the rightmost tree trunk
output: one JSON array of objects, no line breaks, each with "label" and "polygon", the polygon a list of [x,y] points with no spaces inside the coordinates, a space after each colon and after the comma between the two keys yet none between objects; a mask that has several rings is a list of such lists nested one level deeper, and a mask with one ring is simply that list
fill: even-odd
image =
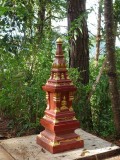
[{"label": "green undergrowth between the red shrine and the rightmost tree trunk", "polygon": [[[109,84],[106,70],[104,70],[104,73],[101,76],[100,82],[97,84],[96,90],[93,93],[90,102],[86,101],[92,89],[92,85],[99,73],[100,67],[102,66],[103,60],[104,58],[101,56],[99,60],[99,65],[96,68],[94,65],[94,59],[91,59],[90,83],[87,86],[84,86],[77,82],[77,79],[80,76],[77,69],[70,69],[69,75],[70,78],[73,80],[74,84],[77,86],[77,92],[75,94],[73,108],[76,112],[77,119],[79,119],[81,122],[81,127],[87,129],[88,121],[86,121],[85,114],[88,110],[88,107],[91,107],[93,132],[97,135],[107,137],[115,134],[115,128],[113,122],[112,107],[109,98]],[[117,64],[119,63],[117,62]]]}]

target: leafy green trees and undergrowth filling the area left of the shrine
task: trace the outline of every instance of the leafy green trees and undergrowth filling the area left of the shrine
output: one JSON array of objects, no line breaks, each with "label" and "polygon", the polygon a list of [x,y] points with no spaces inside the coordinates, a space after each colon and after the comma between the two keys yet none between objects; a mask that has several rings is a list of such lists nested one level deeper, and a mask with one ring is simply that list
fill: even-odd
[{"label": "leafy green trees and undergrowth filling the area left of the shrine", "polygon": [[4,0],[0,5],[0,113],[21,135],[40,125],[46,107],[42,86],[59,36],[51,21],[65,16],[66,2]]}]

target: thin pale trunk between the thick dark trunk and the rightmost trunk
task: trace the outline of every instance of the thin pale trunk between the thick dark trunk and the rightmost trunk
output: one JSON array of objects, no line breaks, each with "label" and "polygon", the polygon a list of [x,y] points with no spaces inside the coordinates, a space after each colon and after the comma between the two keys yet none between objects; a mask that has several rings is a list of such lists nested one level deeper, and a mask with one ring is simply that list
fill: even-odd
[{"label": "thin pale trunk between the thick dark trunk and the rightmost trunk", "polygon": [[102,4],[101,0],[98,0],[98,20],[97,20],[97,36],[96,36],[96,56],[95,56],[95,61],[96,61],[96,66],[98,65],[98,59],[100,55],[100,40],[101,40],[101,35],[100,35],[100,28],[101,28],[101,9],[102,9]]}]

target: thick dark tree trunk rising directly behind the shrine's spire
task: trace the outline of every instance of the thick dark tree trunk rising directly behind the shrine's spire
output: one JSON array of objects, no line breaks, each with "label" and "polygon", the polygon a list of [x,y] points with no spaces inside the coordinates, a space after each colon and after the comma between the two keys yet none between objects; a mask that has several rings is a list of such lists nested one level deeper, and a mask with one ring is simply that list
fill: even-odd
[{"label": "thick dark tree trunk rising directly behind the shrine's spire", "polygon": [[[85,19],[86,0],[68,0],[68,28],[70,33],[69,66],[78,68],[80,82],[89,83],[88,29]],[[77,27],[74,25],[76,21]]]}]

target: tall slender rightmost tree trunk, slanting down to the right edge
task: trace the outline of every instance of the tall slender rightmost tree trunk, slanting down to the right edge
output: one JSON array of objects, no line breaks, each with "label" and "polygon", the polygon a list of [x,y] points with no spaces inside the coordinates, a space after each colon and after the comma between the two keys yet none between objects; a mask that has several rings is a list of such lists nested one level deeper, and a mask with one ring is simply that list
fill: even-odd
[{"label": "tall slender rightmost tree trunk, slanting down to the right edge", "polygon": [[111,97],[116,133],[118,136],[120,136],[120,99],[119,99],[117,74],[116,74],[113,1],[104,0],[104,7],[105,7],[105,30],[106,30],[109,92]]}]

